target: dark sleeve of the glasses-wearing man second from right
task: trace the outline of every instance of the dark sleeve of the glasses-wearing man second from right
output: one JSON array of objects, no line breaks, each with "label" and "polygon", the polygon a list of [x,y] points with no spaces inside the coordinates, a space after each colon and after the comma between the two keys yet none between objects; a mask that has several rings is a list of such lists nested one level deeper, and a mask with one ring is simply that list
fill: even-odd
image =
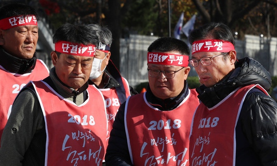
[{"label": "dark sleeve of the glasses-wearing man second from right", "polygon": [[105,155],[106,166],[132,166],[124,126],[125,103],[121,104],[113,123]]}]

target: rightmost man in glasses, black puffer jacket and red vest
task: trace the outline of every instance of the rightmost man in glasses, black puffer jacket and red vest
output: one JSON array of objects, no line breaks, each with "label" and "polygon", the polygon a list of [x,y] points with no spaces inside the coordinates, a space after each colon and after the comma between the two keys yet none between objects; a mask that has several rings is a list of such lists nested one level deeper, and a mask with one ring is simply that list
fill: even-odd
[{"label": "rightmost man in glasses, black puffer jacket and red vest", "polygon": [[266,90],[270,73],[252,58],[237,60],[222,23],[189,36],[190,66],[202,85],[191,127],[190,166],[276,166],[277,103]]}]

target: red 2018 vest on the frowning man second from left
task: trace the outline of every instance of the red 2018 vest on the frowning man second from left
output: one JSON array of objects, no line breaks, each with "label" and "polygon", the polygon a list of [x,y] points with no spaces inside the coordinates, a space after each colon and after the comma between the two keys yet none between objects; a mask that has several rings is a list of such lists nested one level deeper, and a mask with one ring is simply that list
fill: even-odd
[{"label": "red 2018 vest on the frowning man second from left", "polygon": [[89,86],[88,99],[78,106],[47,83],[34,85],[46,126],[45,165],[102,166],[107,119],[101,92]]}]

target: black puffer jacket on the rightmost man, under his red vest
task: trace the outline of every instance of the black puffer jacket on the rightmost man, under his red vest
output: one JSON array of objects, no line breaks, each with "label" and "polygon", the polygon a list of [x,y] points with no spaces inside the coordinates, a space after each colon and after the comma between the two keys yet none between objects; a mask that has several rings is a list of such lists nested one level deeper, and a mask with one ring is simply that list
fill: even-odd
[{"label": "black puffer jacket on the rightmost man, under his red vest", "polygon": [[[197,88],[211,108],[240,86],[260,84],[268,90],[271,76],[251,58],[240,59],[234,71],[213,87]],[[236,127],[236,166],[277,166],[277,103],[254,88],[246,96]]]}]

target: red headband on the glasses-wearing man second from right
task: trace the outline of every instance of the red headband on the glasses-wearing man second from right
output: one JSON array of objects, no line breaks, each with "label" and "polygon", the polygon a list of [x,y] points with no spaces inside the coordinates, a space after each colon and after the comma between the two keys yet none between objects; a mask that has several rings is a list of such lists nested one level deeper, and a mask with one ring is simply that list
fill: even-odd
[{"label": "red headband on the glasses-wearing man second from right", "polygon": [[148,64],[187,67],[189,65],[189,56],[162,52],[148,52],[147,62]]}]

